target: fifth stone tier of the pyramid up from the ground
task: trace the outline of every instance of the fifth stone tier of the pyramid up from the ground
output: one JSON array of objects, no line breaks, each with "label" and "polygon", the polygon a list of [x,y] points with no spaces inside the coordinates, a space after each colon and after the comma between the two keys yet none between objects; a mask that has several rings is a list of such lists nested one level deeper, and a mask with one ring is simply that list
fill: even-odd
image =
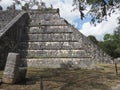
[{"label": "fifth stone tier of the pyramid up from the ground", "polygon": [[30,27],[25,33],[38,34],[38,33],[72,33],[73,31],[69,26],[41,26]]}]

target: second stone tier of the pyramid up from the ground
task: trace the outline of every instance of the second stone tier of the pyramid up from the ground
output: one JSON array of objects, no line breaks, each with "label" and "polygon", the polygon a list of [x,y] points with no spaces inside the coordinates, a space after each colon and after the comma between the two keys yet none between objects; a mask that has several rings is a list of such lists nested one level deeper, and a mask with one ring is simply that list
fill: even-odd
[{"label": "second stone tier of the pyramid up from the ground", "polygon": [[80,58],[88,57],[85,50],[22,50],[19,51],[21,57],[27,58]]}]

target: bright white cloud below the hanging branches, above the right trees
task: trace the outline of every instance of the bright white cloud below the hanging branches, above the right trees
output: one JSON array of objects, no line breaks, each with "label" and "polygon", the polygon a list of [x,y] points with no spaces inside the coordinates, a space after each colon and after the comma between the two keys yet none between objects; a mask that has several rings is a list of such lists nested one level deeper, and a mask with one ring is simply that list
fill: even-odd
[{"label": "bright white cloud below the hanging branches, above the right trees", "polygon": [[82,32],[84,35],[94,35],[98,40],[102,40],[103,36],[106,33],[112,34],[114,29],[118,25],[117,17],[119,14],[112,14],[111,17],[108,17],[108,21],[103,21],[95,26],[91,25],[89,22],[83,24]]}]

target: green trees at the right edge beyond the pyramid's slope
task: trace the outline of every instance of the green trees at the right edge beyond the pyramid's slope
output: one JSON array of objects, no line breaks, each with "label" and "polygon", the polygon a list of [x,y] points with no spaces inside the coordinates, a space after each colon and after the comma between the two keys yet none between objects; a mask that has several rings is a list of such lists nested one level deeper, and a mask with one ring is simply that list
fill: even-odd
[{"label": "green trees at the right edge beyond the pyramid's slope", "polygon": [[99,42],[99,46],[110,56],[120,57],[120,26],[116,28],[113,35],[106,34],[104,41]]}]

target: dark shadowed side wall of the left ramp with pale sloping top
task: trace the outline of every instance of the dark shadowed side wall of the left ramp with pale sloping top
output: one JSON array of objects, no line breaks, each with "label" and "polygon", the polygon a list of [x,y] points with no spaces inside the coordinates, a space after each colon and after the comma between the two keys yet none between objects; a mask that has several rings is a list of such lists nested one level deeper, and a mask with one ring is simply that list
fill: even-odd
[{"label": "dark shadowed side wall of the left ramp with pale sloping top", "polygon": [[[12,19],[11,16],[5,17]],[[4,67],[8,52],[17,52],[28,19],[28,14],[21,12],[0,30],[0,67]]]}]

